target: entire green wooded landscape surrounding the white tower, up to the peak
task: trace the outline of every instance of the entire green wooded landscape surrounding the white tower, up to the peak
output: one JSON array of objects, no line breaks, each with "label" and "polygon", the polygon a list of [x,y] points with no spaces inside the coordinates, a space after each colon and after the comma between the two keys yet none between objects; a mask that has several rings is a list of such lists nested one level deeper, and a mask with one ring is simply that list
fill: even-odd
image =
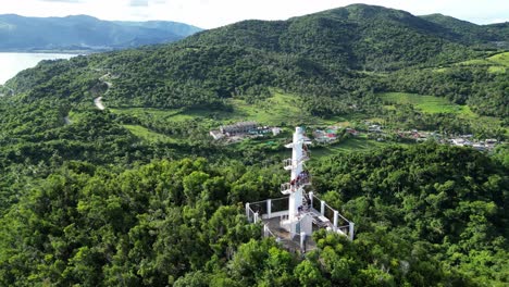
[{"label": "entire green wooded landscape surrounding the white tower, up to the peak", "polygon": [[[507,140],[509,54],[479,42],[351,5],[23,71],[0,89],[0,285],[506,286],[507,145],[342,128],[342,150],[313,145],[307,167],[316,195],[356,223],[353,241],[316,233],[302,257],[244,215],[246,202],[281,197],[295,125]],[[385,102],[385,91],[444,97],[474,120]],[[282,134],[231,145],[208,134],[252,114]],[[343,150],[351,142],[376,146]]]}]

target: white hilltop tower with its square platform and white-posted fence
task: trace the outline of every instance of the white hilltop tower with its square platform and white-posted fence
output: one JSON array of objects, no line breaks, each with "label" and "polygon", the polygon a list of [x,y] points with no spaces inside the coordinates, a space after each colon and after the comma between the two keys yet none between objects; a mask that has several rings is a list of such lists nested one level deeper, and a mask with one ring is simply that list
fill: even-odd
[{"label": "white hilltop tower with its square platform and white-posted fence", "polygon": [[311,175],[305,169],[305,162],[309,160],[309,144],[303,129],[297,127],[293,142],[285,146],[291,148],[291,158],[283,161],[290,178],[281,185],[281,192],[288,197],[246,203],[248,220],[253,223],[261,221],[264,236],[273,236],[286,248],[301,252],[314,248],[311,235],[320,228],[353,239],[353,223],[320,200],[313,191],[306,191],[311,187]]}]

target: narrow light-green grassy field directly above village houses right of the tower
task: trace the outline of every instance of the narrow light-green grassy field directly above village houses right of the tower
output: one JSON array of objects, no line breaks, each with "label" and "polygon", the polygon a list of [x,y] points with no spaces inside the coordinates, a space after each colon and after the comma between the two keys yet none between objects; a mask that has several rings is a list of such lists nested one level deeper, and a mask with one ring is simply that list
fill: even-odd
[{"label": "narrow light-green grassy field directly above village houses right of the tower", "polygon": [[[459,105],[449,102],[446,98],[424,96],[418,93],[408,92],[383,92],[380,97],[395,104],[412,104],[415,109],[419,109],[425,113],[469,113],[470,109],[465,105]],[[394,105],[387,105],[386,109],[395,109]],[[472,113],[470,111],[470,113]]]}]

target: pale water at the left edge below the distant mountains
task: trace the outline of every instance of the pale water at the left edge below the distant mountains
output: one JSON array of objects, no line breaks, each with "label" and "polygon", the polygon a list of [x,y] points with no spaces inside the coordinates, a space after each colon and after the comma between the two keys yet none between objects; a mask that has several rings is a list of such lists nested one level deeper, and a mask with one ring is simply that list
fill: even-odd
[{"label": "pale water at the left edge below the distant mountains", "polygon": [[75,55],[77,54],[0,52],[0,85],[5,84],[18,72],[36,66],[41,60],[70,59]]}]

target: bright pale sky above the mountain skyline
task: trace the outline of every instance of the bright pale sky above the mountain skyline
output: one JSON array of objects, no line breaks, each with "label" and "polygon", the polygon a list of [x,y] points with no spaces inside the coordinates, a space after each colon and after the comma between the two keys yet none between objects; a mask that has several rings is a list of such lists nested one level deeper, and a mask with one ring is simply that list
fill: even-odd
[{"label": "bright pale sky above the mountain skyline", "polygon": [[509,0],[3,0],[0,14],[102,20],[167,20],[213,28],[248,18],[285,20],[351,3],[377,4],[415,15],[442,13],[476,24],[509,21]]}]

